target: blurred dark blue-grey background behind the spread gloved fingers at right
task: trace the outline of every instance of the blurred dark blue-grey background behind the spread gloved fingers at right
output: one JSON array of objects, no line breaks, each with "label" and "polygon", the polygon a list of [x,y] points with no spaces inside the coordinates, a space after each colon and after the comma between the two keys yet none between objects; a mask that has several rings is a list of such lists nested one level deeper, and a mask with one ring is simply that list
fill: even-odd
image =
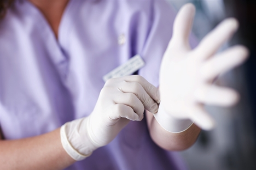
[{"label": "blurred dark blue-grey background behind the spread gloved fingers at right", "polygon": [[202,131],[197,142],[182,151],[190,169],[256,169],[256,1],[168,1],[178,11],[183,4],[196,6],[193,33],[201,40],[226,17],[236,17],[240,29],[225,48],[242,44],[250,50],[246,64],[220,75],[215,82],[240,92],[240,102],[230,108],[206,106],[216,119],[212,131]]}]

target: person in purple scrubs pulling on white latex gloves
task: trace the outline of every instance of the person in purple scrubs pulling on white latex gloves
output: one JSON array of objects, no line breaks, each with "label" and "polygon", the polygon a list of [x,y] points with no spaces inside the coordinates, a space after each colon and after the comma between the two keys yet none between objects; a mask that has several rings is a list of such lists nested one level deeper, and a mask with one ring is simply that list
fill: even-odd
[{"label": "person in purple scrubs pulling on white latex gloves", "polygon": [[[174,21],[164,1],[13,2],[0,21],[1,168],[184,169],[167,150],[213,128],[203,104],[235,104],[211,83],[248,53],[215,54],[235,19],[191,50],[194,14],[187,4]],[[104,83],[136,54],[139,75]]]}]

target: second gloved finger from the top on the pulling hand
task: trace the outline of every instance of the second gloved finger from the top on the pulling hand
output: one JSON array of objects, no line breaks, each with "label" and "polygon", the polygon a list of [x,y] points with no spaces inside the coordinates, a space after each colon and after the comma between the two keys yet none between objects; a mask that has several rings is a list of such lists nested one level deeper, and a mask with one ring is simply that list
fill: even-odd
[{"label": "second gloved finger from the top on the pulling hand", "polygon": [[149,96],[144,88],[138,82],[125,82],[120,84],[119,89],[124,93],[133,93],[141,100],[142,104],[152,113],[158,112],[158,104]]}]

